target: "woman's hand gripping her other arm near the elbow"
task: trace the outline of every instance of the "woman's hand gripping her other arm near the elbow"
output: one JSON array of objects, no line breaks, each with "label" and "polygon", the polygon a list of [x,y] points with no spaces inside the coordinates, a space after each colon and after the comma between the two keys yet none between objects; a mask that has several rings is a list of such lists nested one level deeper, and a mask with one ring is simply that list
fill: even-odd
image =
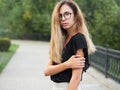
[{"label": "woman's hand gripping her other arm near the elbow", "polygon": [[83,68],[85,66],[85,58],[80,55],[73,55],[65,63],[69,68]]}]

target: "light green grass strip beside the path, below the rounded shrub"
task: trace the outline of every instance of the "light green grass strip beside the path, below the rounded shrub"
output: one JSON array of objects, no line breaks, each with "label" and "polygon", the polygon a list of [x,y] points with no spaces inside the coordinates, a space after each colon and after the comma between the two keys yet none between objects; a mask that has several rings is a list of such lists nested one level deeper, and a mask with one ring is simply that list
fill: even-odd
[{"label": "light green grass strip beside the path, below the rounded shrub", "polygon": [[0,73],[8,64],[12,56],[14,55],[15,51],[17,50],[18,45],[11,44],[9,50],[7,52],[0,52]]}]

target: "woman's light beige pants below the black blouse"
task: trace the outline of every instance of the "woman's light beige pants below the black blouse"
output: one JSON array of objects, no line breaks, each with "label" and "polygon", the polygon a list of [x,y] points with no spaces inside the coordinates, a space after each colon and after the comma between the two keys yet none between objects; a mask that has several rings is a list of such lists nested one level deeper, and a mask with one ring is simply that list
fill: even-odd
[{"label": "woman's light beige pants below the black blouse", "polygon": [[[68,83],[53,83],[52,90],[68,90]],[[80,88],[78,90],[81,90]]]}]

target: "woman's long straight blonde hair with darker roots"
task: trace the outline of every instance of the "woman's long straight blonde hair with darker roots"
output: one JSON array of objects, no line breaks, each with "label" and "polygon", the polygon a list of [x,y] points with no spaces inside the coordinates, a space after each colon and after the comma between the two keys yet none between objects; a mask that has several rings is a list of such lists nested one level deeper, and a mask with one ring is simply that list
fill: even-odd
[{"label": "woman's long straight blonde hair with darker roots", "polygon": [[[63,4],[67,4],[73,10],[76,18],[76,30],[82,33],[86,38],[88,53],[92,54],[95,52],[96,48],[91,40],[86,23],[82,14],[82,11],[79,9],[78,5],[73,0],[61,0],[58,2],[53,10],[52,14],[52,23],[51,23],[51,40],[50,40],[50,51],[49,57],[53,62],[61,63],[61,56],[63,50],[63,44],[65,40],[65,34],[60,26],[59,20],[59,9]],[[72,8],[73,7],[73,8]],[[75,10],[76,9],[76,10]]]}]

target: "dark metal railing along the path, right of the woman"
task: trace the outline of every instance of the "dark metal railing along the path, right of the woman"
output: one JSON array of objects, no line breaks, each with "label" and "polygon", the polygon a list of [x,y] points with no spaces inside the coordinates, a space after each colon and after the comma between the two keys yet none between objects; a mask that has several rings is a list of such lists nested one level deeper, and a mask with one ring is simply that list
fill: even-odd
[{"label": "dark metal railing along the path, right of the woman", "polygon": [[91,66],[100,70],[105,77],[120,83],[120,51],[96,46],[97,51],[90,56]]}]

